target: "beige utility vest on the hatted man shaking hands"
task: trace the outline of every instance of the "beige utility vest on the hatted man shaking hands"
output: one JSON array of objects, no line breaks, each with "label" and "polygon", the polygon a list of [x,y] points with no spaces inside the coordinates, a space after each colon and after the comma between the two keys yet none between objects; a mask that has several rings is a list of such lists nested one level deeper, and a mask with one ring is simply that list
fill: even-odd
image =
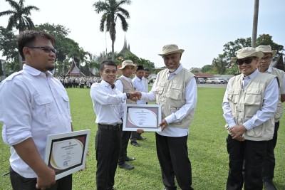
[{"label": "beige utility vest on the hatted man shaking hands", "polygon": [[[176,112],[185,105],[185,88],[187,83],[194,77],[185,68],[175,75],[172,80],[168,80],[168,69],[160,71],[157,74],[157,83],[155,86],[156,103],[161,105],[162,119]],[[178,127],[187,129],[193,120],[195,110],[192,110],[182,122],[170,123],[169,127]]]}]

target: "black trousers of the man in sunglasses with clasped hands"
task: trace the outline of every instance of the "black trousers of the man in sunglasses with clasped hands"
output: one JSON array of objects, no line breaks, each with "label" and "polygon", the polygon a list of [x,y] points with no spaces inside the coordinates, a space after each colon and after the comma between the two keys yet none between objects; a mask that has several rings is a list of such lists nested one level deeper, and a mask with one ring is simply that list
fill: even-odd
[{"label": "black trousers of the man in sunglasses with clasped hands", "polygon": [[227,137],[229,153],[229,175],[227,190],[262,190],[262,162],[266,154],[267,141],[239,142]]}]

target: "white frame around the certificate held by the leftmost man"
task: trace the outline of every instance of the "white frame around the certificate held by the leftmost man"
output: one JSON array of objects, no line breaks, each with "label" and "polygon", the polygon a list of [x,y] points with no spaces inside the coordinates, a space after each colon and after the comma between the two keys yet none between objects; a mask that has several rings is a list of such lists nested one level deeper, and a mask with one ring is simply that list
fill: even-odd
[{"label": "white frame around the certificate held by the leftmost man", "polygon": [[[89,137],[90,137],[90,130],[81,130],[81,131],[76,131],[76,132],[67,132],[67,133],[48,135],[47,140],[46,140],[45,162],[48,165],[48,167],[51,167],[52,169],[56,171],[56,180],[61,179],[64,176],[73,174],[74,172],[85,168]],[[83,145],[83,151],[81,152],[81,155],[79,155],[81,157],[81,161],[80,163],[73,165],[71,167],[68,167],[66,169],[57,169],[56,167],[53,167],[52,161],[51,161],[53,159],[52,153],[53,153],[54,144],[58,142],[65,142],[68,139],[76,140],[78,142],[80,141],[79,144]],[[65,148],[65,147],[62,147],[62,148]]]}]

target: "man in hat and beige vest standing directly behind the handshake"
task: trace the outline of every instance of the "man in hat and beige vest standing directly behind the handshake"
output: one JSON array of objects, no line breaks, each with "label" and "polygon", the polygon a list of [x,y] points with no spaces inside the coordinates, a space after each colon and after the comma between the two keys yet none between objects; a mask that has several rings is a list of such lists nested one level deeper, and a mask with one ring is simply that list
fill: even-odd
[{"label": "man in hat and beige vest standing directly behind the handshake", "polygon": [[[122,93],[131,93],[135,92],[135,87],[132,83],[130,77],[133,75],[137,67],[132,60],[124,60],[122,67],[119,70],[122,72],[122,75],[118,80],[116,80],[115,85],[118,90]],[[136,104],[135,101],[130,99],[126,100],[127,104]],[[118,160],[118,167],[123,169],[134,169],[134,167],[126,161],[133,161],[135,158],[127,156],[128,142],[130,139],[130,131],[122,130],[122,147],[120,149],[120,157]]]}]

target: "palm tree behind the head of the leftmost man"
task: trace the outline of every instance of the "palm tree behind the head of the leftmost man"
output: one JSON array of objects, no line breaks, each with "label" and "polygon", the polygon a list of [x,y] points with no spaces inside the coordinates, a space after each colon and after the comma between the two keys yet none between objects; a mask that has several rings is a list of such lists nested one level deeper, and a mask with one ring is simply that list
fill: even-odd
[{"label": "palm tree behind the head of the leftmost man", "polygon": [[[13,0],[5,0],[8,2],[12,8],[12,10],[7,10],[0,12],[0,16],[10,16],[8,21],[8,30],[12,30],[12,28],[16,28],[21,31],[26,29],[30,30],[34,28],[33,21],[31,21],[31,11],[39,11],[36,6],[24,6],[25,0],[19,0],[19,3]],[[22,58],[19,55],[19,66],[20,69],[23,67]]]}]

